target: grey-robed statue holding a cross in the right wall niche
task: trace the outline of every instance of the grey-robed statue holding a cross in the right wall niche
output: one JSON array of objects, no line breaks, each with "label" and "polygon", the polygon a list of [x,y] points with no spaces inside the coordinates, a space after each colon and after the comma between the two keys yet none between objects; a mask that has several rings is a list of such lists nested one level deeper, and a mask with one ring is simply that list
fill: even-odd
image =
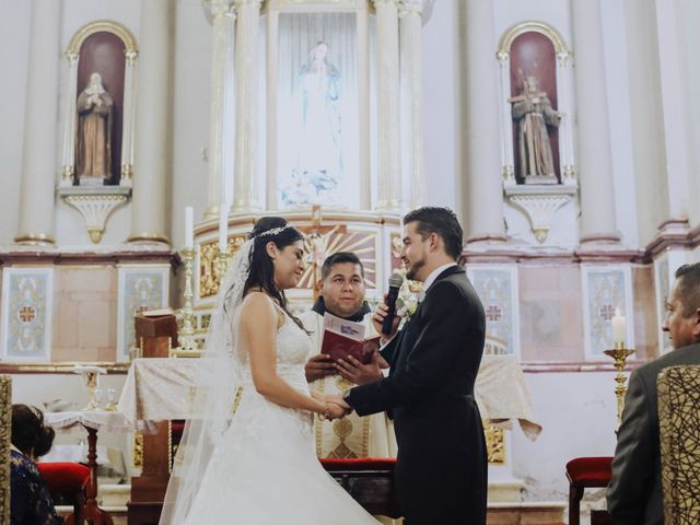
[{"label": "grey-robed statue holding a cross in the right wall niche", "polygon": [[525,184],[557,184],[547,126],[558,127],[561,114],[552,109],[547,93],[538,91],[537,79],[532,75],[525,78],[523,92],[509,102],[513,104],[513,120],[517,120],[520,178]]}]

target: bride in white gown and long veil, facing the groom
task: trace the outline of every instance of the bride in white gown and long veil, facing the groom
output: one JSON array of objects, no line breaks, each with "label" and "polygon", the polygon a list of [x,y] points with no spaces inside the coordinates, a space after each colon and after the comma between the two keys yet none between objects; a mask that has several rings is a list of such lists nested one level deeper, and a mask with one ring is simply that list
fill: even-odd
[{"label": "bride in white gown and long veil, facing the groom", "polygon": [[284,296],[302,257],[302,234],[270,217],[229,266],[161,525],[377,523],[314,452],[313,413],[343,410],[310,394],[305,380],[311,340]]}]

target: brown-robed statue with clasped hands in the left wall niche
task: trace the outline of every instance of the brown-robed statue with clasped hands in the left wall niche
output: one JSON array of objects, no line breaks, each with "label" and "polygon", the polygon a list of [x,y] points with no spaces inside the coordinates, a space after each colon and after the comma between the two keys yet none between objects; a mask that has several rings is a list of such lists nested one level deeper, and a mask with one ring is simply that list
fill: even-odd
[{"label": "brown-robed statue with clasped hands in the left wall niche", "polygon": [[114,102],[100,73],[78,96],[75,176],[80,185],[103,185],[112,172],[112,114]]}]

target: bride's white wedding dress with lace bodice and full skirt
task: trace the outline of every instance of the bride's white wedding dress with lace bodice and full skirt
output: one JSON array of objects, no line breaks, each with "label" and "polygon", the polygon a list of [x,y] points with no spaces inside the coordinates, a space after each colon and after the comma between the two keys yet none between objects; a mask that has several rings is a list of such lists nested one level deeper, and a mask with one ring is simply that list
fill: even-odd
[{"label": "bride's white wedding dress with lace bodice and full skirt", "polygon": [[[311,339],[285,316],[277,334],[277,373],[308,394]],[[324,470],[314,452],[313,415],[268,401],[243,366],[243,393],[188,512],[189,525],[362,525],[377,522]]]}]

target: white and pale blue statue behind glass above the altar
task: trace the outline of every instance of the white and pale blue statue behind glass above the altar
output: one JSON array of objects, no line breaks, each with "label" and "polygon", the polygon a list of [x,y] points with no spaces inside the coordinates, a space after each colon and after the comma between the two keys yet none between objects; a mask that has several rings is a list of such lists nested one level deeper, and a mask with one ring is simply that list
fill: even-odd
[{"label": "white and pale blue statue behind glass above the altar", "polygon": [[282,188],[287,206],[337,200],[334,189],[342,176],[340,144],[340,72],[328,59],[328,45],[318,42],[300,68],[301,132],[296,167]]}]

